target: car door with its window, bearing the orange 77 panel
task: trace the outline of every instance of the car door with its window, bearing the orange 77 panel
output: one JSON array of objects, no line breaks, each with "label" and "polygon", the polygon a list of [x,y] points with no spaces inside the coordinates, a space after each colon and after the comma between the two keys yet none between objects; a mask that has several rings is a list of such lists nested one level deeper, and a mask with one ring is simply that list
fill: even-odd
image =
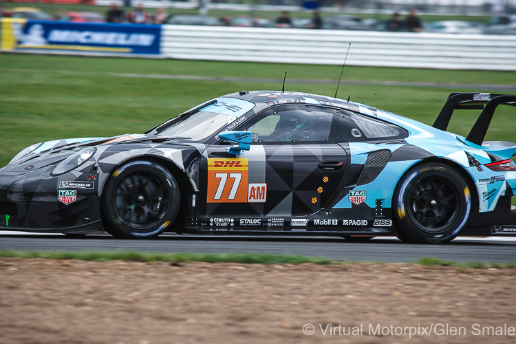
[{"label": "car door with its window, bearing the orange 77 panel", "polygon": [[200,175],[204,215],[301,217],[324,208],[347,164],[334,142],[337,122],[336,109],[281,105],[236,128],[252,131],[249,151],[232,155],[229,144],[208,146]]}]

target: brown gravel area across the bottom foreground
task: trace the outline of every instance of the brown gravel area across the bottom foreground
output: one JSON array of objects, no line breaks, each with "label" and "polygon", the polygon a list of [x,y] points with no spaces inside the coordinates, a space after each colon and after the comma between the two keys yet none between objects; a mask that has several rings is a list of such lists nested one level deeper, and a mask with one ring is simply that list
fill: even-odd
[{"label": "brown gravel area across the bottom foreground", "polygon": [[1,258],[0,343],[515,343],[515,278],[413,264]]}]

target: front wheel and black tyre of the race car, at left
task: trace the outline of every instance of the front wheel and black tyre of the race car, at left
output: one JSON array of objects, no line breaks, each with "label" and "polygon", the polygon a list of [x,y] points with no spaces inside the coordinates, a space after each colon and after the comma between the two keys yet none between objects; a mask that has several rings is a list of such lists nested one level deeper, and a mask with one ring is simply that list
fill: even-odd
[{"label": "front wheel and black tyre of the race car, at left", "polygon": [[173,224],[179,211],[180,191],[173,175],[160,164],[138,160],[111,173],[102,200],[107,233],[148,239]]}]

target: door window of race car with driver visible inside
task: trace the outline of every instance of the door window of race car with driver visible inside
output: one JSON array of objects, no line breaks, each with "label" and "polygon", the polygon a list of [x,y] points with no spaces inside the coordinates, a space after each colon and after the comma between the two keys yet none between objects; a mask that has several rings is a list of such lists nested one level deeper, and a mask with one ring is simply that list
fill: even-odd
[{"label": "door window of race car with driver visible inside", "polygon": [[252,132],[253,142],[325,141],[330,138],[333,118],[332,111],[323,108],[290,105],[267,111],[242,130]]}]

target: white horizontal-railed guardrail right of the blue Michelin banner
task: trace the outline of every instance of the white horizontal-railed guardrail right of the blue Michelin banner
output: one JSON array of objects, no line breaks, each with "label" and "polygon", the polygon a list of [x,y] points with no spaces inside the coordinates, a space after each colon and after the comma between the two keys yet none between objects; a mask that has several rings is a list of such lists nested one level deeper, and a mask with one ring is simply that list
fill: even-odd
[{"label": "white horizontal-railed guardrail right of the blue Michelin banner", "polygon": [[438,69],[516,70],[516,37],[163,25],[167,58]]}]

